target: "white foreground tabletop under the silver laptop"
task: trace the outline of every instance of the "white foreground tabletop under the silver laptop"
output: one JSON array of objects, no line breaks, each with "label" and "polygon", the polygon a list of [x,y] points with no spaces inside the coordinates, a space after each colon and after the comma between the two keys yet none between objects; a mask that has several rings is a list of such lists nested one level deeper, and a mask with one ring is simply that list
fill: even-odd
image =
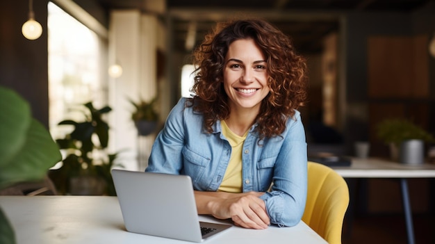
[{"label": "white foreground tabletop under the silver laptop", "polygon": [[[189,243],[168,238],[133,234],[125,230],[116,197],[0,196],[17,244],[27,243]],[[200,220],[217,222],[200,216]],[[263,230],[231,227],[205,243],[323,243],[304,222],[295,227]]]}]

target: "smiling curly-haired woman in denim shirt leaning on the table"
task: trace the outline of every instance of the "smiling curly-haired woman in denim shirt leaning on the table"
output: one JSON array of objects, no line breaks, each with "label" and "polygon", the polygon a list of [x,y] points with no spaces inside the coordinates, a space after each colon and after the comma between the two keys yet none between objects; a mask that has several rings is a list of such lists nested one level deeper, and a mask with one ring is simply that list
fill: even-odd
[{"label": "smiling curly-haired woman in denim shirt leaning on the table", "polygon": [[195,95],[167,117],[147,172],[192,178],[199,214],[265,229],[296,225],[306,201],[306,141],[296,110],[306,65],[263,20],[217,26],[195,50]]}]

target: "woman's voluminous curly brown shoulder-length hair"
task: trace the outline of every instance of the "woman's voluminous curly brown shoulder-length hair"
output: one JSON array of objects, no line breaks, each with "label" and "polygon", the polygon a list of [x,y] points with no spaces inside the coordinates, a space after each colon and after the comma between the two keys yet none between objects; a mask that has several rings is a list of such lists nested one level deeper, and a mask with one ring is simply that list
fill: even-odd
[{"label": "woman's voluminous curly brown shoulder-length hair", "polygon": [[240,39],[253,39],[267,61],[270,93],[261,102],[256,117],[260,138],[280,135],[288,117],[306,99],[306,63],[290,38],[262,19],[239,19],[217,24],[193,52],[195,83],[188,106],[204,115],[204,129],[211,133],[217,120],[229,117],[228,96],[223,86],[223,69],[229,45]]}]

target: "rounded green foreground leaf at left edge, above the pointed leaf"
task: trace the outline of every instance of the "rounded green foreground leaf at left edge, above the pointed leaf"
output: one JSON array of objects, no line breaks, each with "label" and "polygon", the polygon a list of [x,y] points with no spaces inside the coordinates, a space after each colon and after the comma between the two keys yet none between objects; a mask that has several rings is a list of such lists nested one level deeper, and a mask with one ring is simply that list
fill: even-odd
[{"label": "rounded green foreground leaf at left edge, above the pointed leaf", "polygon": [[0,87],[0,168],[22,149],[31,124],[28,103],[17,92]]}]

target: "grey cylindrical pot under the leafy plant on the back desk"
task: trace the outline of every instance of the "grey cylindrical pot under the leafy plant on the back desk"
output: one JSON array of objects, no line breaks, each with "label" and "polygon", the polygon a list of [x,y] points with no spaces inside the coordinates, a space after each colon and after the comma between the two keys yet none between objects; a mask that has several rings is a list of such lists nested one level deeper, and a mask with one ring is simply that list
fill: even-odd
[{"label": "grey cylindrical pot under the leafy plant on the back desk", "polygon": [[425,143],[422,140],[404,140],[400,144],[400,163],[425,163]]}]

